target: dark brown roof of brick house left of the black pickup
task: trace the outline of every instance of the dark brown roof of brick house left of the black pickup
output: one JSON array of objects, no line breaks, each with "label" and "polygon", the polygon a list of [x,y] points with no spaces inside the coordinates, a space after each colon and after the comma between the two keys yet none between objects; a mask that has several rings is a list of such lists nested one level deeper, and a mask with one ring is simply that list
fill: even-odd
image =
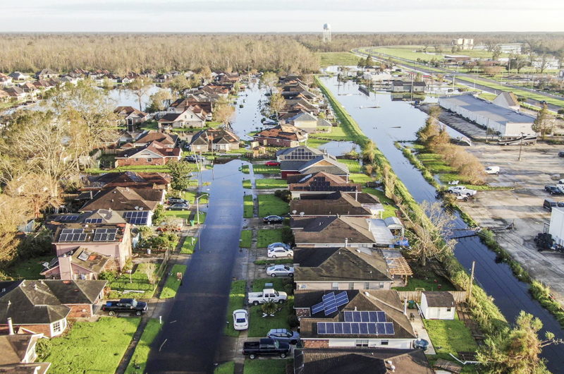
[{"label": "dark brown roof of brick house left of the black pickup", "polygon": [[71,311],[65,304],[92,304],[104,286],[106,281],[91,280],[0,282],[0,321],[38,325],[62,320]]}]

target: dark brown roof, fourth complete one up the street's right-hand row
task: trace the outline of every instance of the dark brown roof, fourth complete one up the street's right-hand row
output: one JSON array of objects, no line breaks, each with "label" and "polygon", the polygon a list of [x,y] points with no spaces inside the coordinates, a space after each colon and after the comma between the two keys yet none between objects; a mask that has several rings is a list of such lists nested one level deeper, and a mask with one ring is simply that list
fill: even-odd
[{"label": "dark brown roof, fourth complete one up the street's right-hand row", "polygon": [[362,203],[355,200],[354,195],[343,193],[343,191],[324,195],[301,195],[300,200],[290,200],[290,212],[294,210],[296,215],[304,212],[305,216],[372,216],[372,212],[368,208],[363,207]]}]

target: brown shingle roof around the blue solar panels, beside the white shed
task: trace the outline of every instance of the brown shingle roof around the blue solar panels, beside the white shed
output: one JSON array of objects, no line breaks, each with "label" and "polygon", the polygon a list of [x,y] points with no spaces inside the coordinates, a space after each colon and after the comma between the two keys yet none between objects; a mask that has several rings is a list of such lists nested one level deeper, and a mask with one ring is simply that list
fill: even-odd
[{"label": "brown shingle roof around the blue solar panels, beside the white shed", "polygon": [[[311,308],[323,301],[325,294],[331,290],[295,291],[294,308]],[[386,313],[386,322],[393,323],[394,333],[384,335],[389,339],[416,339],[417,336],[407,315],[403,314],[403,304],[396,290],[350,290],[343,291],[348,295],[349,302],[338,307],[338,310],[325,315],[321,310],[311,317],[302,317],[300,320],[300,334],[302,339],[322,338],[328,339],[370,339],[382,337],[377,334],[317,334],[317,322],[345,322],[345,311],[383,311]],[[339,291],[341,293],[341,291]],[[355,309],[356,308],[356,309]]]}]

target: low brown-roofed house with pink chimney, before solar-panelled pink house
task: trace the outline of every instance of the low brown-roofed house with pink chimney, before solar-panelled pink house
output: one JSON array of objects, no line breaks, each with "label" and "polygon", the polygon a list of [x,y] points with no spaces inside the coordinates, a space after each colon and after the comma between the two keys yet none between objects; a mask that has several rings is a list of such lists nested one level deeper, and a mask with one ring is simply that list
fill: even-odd
[{"label": "low brown-roofed house with pink chimney, before solar-panelled pink house", "polygon": [[106,271],[109,260],[108,255],[80,246],[51,260],[40,274],[47,279],[96,280],[100,272]]}]

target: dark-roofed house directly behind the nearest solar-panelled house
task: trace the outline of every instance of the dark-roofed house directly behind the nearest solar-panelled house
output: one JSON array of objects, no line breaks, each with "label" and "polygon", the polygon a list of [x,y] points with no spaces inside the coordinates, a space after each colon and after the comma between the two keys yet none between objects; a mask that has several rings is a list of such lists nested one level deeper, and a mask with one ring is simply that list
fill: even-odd
[{"label": "dark-roofed house directly behind the nearest solar-panelled house", "polygon": [[391,289],[386,260],[369,248],[295,248],[296,289]]}]

